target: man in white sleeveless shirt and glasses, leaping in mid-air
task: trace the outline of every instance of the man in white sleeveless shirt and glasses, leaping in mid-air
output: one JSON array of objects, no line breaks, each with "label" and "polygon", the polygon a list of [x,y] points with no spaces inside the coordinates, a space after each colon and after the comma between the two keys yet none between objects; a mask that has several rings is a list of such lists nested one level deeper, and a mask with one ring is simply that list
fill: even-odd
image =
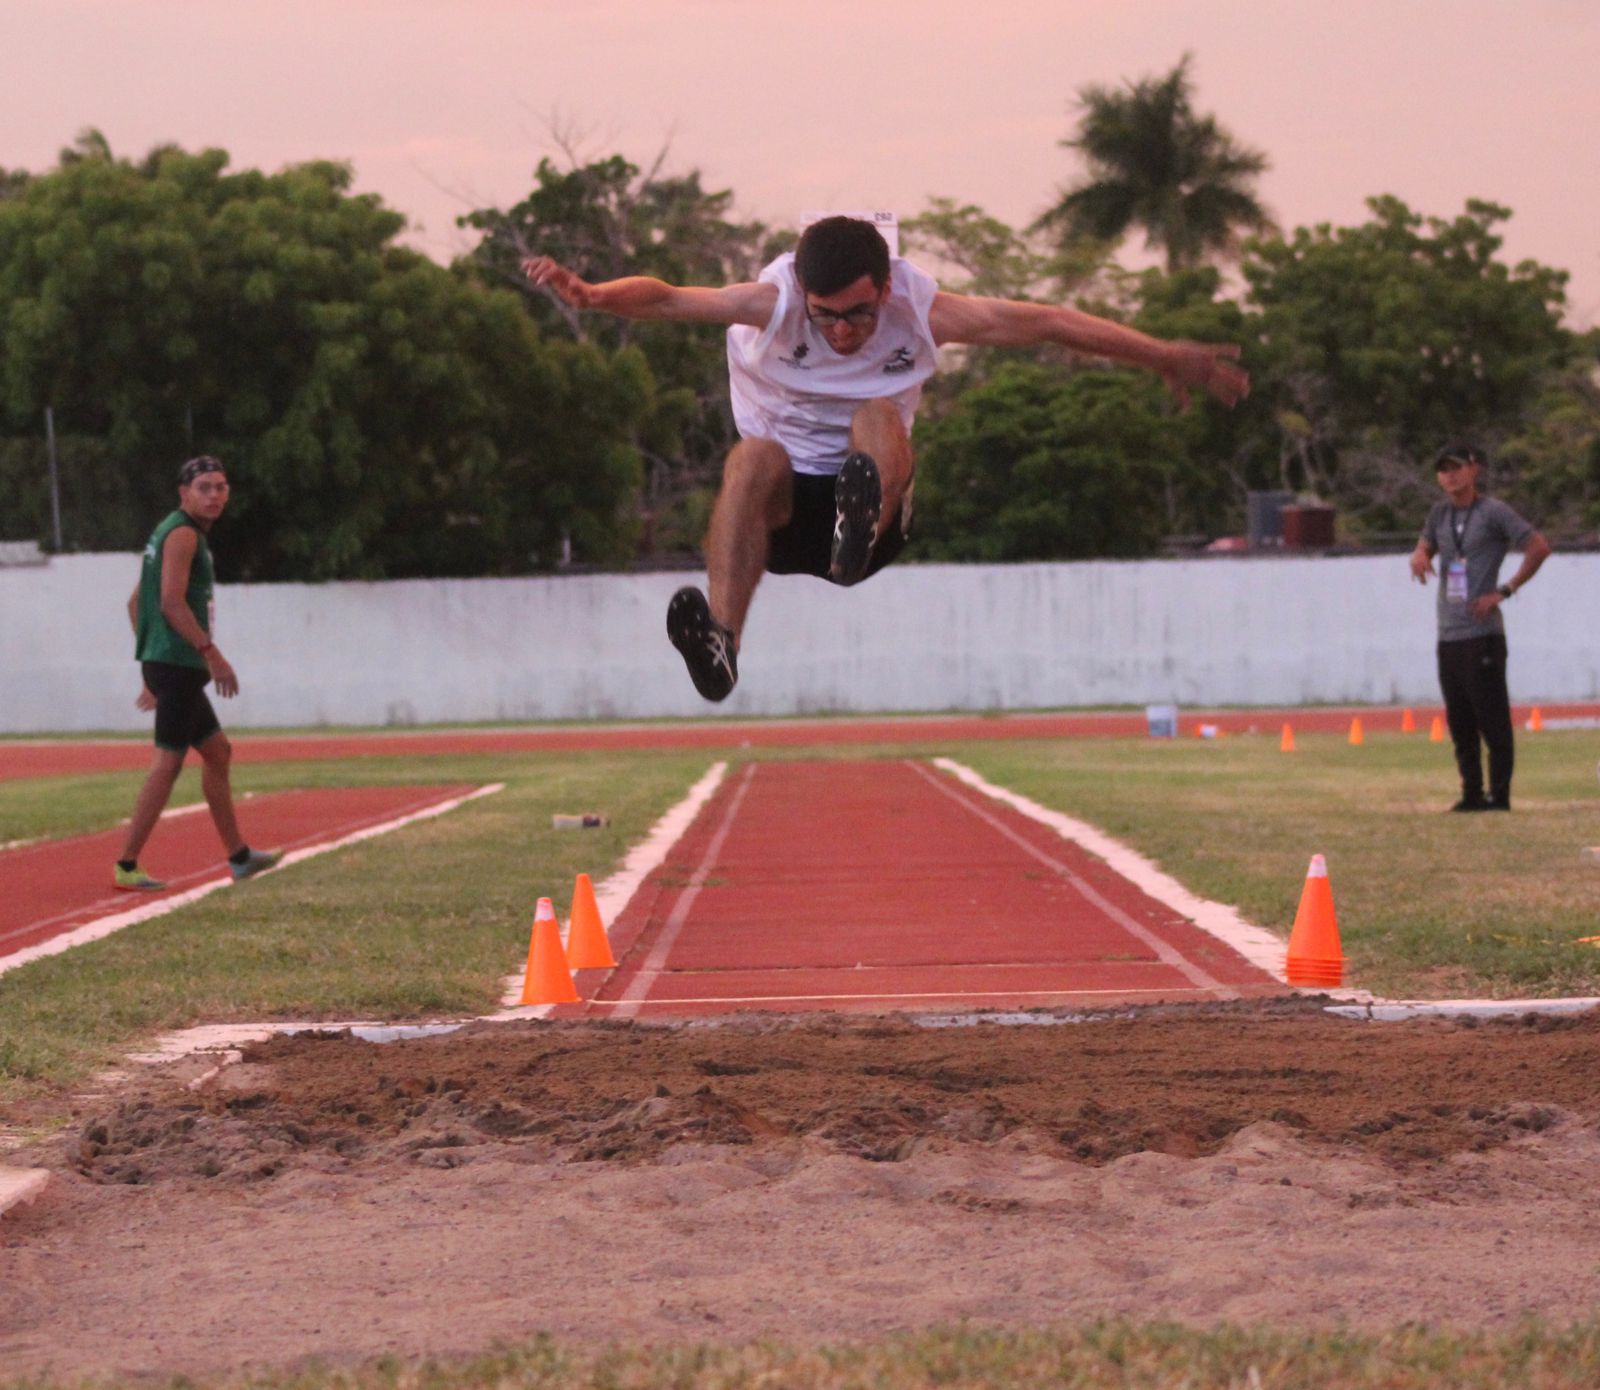
[{"label": "man in white sleeveless shirt and glasses, leaping in mid-air", "polygon": [[744,619],[763,573],[859,584],[899,553],[910,525],[910,429],[947,342],[1058,344],[1157,373],[1187,406],[1250,392],[1238,347],[1162,341],[1051,304],[950,294],[891,256],[861,218],[824,218],[754,283],[722,290],[630,275],[590,285],[549,256],[523,272],[574,309],[622,318],[728,325],[739,443],[706,534],[710,595],[680,589],[667,637],[694,688],[726,699],[739,678]]}]

